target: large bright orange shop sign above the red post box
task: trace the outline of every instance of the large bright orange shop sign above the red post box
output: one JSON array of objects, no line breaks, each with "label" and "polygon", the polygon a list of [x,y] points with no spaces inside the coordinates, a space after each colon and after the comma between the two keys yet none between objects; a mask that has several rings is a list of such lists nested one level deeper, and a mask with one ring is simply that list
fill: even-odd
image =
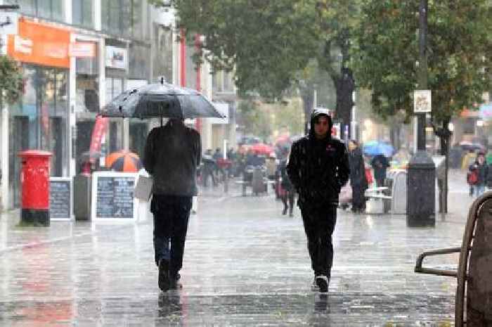
[{"label": "large bright orange shop sign above the red post box", "polygon": [[22,63],[70,68],[70,31],[20,19],[18,34],[8,36],[7,53]]}]

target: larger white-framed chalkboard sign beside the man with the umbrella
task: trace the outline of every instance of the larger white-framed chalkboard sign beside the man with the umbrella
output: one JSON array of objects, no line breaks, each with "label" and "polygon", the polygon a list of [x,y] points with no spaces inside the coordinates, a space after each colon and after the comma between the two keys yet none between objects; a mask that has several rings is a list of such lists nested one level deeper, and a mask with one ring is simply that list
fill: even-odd
[{"label": "larger white-framed chalkboard sign beside the man with the umbrella", "polygon": [[92,175],[92,219],[135,219],[134,188],[138,174],[95,172]]}]

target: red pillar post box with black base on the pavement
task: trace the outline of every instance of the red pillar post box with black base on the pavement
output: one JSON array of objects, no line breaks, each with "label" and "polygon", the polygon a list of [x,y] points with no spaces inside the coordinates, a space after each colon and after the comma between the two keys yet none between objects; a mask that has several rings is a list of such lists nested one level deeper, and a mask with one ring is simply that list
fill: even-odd
[{"label": "red pillar post box with black base on the pavement", "polygon": [[20,185],[23,222],[49,226],[49,167],[51,153],[27,150],[19,153],[22,162]]}]

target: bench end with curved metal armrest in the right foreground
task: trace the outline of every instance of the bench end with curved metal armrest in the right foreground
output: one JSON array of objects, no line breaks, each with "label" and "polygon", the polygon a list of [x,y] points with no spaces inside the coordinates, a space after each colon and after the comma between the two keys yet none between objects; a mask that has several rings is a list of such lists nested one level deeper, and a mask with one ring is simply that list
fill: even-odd
[{"label": "bench end with curved metal armrest in the right foreground", "polygon": [[[492,192],[472,203],[460,248],[423,252],[417,257],[415,272],[451,276],[458,280],[455,299],[455,326],[491,326],[492,323]],[[458,269],[422,267],[425,257],[460,253]],[[466,292],[466,299],[465,299]],[[466,317],[466,320],[465,320]]]}]

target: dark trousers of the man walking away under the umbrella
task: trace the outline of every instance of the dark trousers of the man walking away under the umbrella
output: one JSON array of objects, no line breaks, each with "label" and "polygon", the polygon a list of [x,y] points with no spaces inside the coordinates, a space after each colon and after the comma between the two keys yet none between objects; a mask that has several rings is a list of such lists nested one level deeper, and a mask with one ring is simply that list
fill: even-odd
[{"label": "dark trousers of the man walking away under the umbrella", "polygon": [[183,267],[192,198],[177,195],[153,195],[150,211],[154,214],[155,264],[164,259],[169,276],[177,276]]}]

